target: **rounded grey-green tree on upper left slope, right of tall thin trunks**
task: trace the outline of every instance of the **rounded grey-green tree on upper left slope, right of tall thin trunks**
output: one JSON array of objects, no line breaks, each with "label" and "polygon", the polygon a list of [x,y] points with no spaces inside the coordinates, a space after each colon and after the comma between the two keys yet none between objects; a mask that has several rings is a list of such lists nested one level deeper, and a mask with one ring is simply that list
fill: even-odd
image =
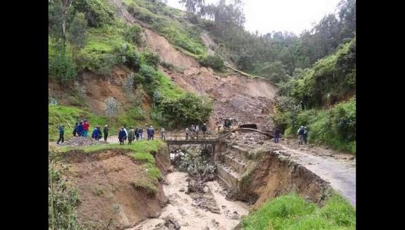
[{"label": "rounded grey-green tree on upper left slope, right of tall thin trunks", "polygon": [[86,45],[87,20],[84,13],[78,13],[69,28],[68,41],[72,45],[73,56]]}]

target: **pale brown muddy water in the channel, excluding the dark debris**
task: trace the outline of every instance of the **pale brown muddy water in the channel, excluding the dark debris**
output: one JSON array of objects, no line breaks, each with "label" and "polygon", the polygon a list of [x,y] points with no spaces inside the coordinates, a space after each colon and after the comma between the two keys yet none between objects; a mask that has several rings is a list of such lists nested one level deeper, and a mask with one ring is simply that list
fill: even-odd
[{"label": "pale brown muddy water in the channel, excluding the dark debris", "polygon": [[217,181],[209,181],[207,187],[212,193],[214,203],[219,208],[219,213],[212,213],[196,206],[196,201],[193,200],[191,194],[179,192],[181,189],[187,190],[187,177],[188,175],[182,172],[168,174],[168,185],[163,186],[170,201],[168,206],[163,208],[159,218],[145,220],[131,230],[169,229],[165,226],[165,217],[177,221],[181,229],[235,229],[240,218],[249,213],[246,204],[226,200],[223,189]]}]

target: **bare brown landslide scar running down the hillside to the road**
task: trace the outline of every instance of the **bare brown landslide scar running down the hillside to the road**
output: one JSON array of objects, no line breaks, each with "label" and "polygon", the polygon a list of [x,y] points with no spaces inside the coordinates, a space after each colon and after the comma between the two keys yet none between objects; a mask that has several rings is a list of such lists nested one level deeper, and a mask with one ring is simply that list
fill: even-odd
[{"label": "bare brown landslide scar running down the hillside to the road", "polygon": [[[227,77],[219,77],[216,73],[200,66],[192,56],[175,49],[166,38],[156,33],[143,23],[135,20],[118,0],[110,0],[117,8],[118,15],[128,24],[139,24],[145,33],[145,43],[149,49],[159,54],[162,61],[171,63],[182,72],[164,70],[165,75],[186,91],[208,95],[214,100],[214,113],[209,119],[210,129],[222,123],[221,118],[236,118],[242,123],[258,123],[261,129],[271,129],[272,122],[267,118],[271,112],[277,86],[265,79],[249,79],[235,72]],[[202,40],[207,49],[213,47],[214,41],[206,33]]]}]

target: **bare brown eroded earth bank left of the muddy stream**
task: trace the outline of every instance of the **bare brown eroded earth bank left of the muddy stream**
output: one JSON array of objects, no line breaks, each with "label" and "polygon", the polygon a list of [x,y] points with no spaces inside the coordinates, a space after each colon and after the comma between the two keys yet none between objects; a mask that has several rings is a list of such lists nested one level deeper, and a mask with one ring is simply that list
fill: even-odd
[{"label": "bare brown eroded earth bank left of the muddy stream", "polygon": [[[163,174],[170,171],[167,147],[151,154]],[[158,217],[167,204],[161,183],[151,185],[146,180],[150,168],[135,160],[131,151],[69,151],[62,163],[69,167],[66,176],[78,189],[78,222],[89,229],[133,227],[148,217]],[[148,190],[153,185],[155,194]]]}]

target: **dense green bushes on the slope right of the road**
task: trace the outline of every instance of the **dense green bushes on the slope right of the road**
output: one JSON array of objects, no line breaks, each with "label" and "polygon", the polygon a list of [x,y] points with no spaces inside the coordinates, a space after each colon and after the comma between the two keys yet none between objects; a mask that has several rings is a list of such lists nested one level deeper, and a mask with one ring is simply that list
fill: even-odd
[{"label": "dense green bushes on the slope right of the road", "polygon": [[306,125],[310,143],[355,153],[354,92],[355,39],[281,84],[271,117],[285,135],[296,135]]}]

